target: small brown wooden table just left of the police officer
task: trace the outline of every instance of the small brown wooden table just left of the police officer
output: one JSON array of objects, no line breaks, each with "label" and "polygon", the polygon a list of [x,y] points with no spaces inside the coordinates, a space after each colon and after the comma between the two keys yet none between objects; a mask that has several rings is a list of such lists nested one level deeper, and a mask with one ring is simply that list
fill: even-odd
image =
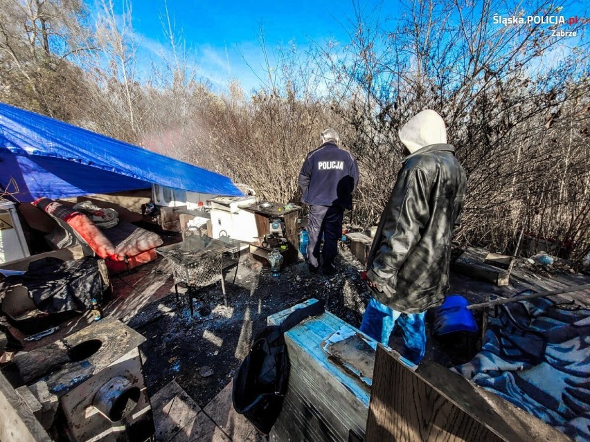
[{"label": "small brown wooden table just left of the police officer", "polygon": [[[271,202],[271,204],[272,206],[270,208],[263,208],[260,204],[253,204],[243,209],[254,213],[258,236],[261,238],[269,234],[269,224],[272,219],[283,221],[285,224],[285,237],[289,244],[289,247],[283,253],[283,257],[285,258],[285,266],[288,266],[298,261],[299,232],[297,219],[299,218],[301,207],[295,205],[293,208],[285,210],[285,205],[282,203]],[[250,243],[250,254],[255,257],[267,259],[271,250],[271,248],[262,247],[262,242]]]}]

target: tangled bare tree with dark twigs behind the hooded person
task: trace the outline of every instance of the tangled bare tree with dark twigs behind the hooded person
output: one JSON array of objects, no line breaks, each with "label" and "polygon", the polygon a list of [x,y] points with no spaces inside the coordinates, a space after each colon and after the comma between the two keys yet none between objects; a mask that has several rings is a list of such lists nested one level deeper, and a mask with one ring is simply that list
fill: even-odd
[{"label": "tangled bare tree with dark twigs behind the hooded person", "polygon": [[[401,18],[389,20],[355,3],[348,46],[337,54],[320,47],[316,58],[340,79],[330,91],[335,109],[354,129],[364,178],[357,208],[367,222],[376,219],[395,180],[401,147],[395,132],[414,113],[434,109],[445,118],[469,176],[460,239],[506,250],[528,219],[535,234],[584,248],[589,236],[580,211],[585,213],[586,204],[566,198],[568,183],[587,181],[589,174],[588,167],[575,174],[571,169],[573,158],[588,160],[574,147],[573,129],[587,118],[583,50],[539,69],[566,43],[553,36],[559,26],[494,23],[500,13],[526,19],[559,15],[564,6],[417,0],[405,5]],[[580,26],[569,30],[583,32]],[[587,47],[583,38],[579,44]],[[578,113],[566,114],[573,102]],[[555,182],[547,171],[555,171]],[[544,214],[547,207],[553,208],[551,217]],[[564,228],[572,219],[580,230]]]}]

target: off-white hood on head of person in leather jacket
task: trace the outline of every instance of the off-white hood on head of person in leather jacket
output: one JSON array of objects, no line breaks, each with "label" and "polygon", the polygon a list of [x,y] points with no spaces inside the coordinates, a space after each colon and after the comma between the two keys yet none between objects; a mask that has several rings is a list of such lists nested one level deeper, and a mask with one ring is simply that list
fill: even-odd
[{"label": "off-white hood on head of person in leather jacket", "polygon": [[404,146],[413,154],[429,145],[446,144],[447,128],[442,117],[427,109],[413,116],[397,132]]}]

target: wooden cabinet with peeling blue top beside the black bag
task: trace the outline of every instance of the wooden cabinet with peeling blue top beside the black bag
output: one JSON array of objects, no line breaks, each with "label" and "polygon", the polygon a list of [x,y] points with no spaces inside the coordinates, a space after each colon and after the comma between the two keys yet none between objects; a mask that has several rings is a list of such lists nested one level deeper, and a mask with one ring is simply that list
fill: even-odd
[{"label": "wooden cabinet with peeling blue top beside the black bag", "polygon": [[[316,300],[299,306],[310,302]],[[291,311],[269,316],[268,323],[280,324]],[[351,429],[364,436],[368,389],[321,348],[342,326],[348,324],[326,312],[285,333],[291,362],[289,390],[270,441],[348,441]]]}]

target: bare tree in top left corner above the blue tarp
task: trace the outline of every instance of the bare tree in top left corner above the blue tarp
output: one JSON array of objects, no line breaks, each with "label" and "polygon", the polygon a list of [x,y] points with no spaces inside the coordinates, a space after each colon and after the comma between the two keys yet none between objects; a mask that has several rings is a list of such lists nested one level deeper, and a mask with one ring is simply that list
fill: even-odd
[{"label": "bare tree in top left corner above the blue tarp", "polygon": [[70,120],[87,98],[71,58],[88,45],[77,0],[0,0],[0,95],[6,102]]}]

